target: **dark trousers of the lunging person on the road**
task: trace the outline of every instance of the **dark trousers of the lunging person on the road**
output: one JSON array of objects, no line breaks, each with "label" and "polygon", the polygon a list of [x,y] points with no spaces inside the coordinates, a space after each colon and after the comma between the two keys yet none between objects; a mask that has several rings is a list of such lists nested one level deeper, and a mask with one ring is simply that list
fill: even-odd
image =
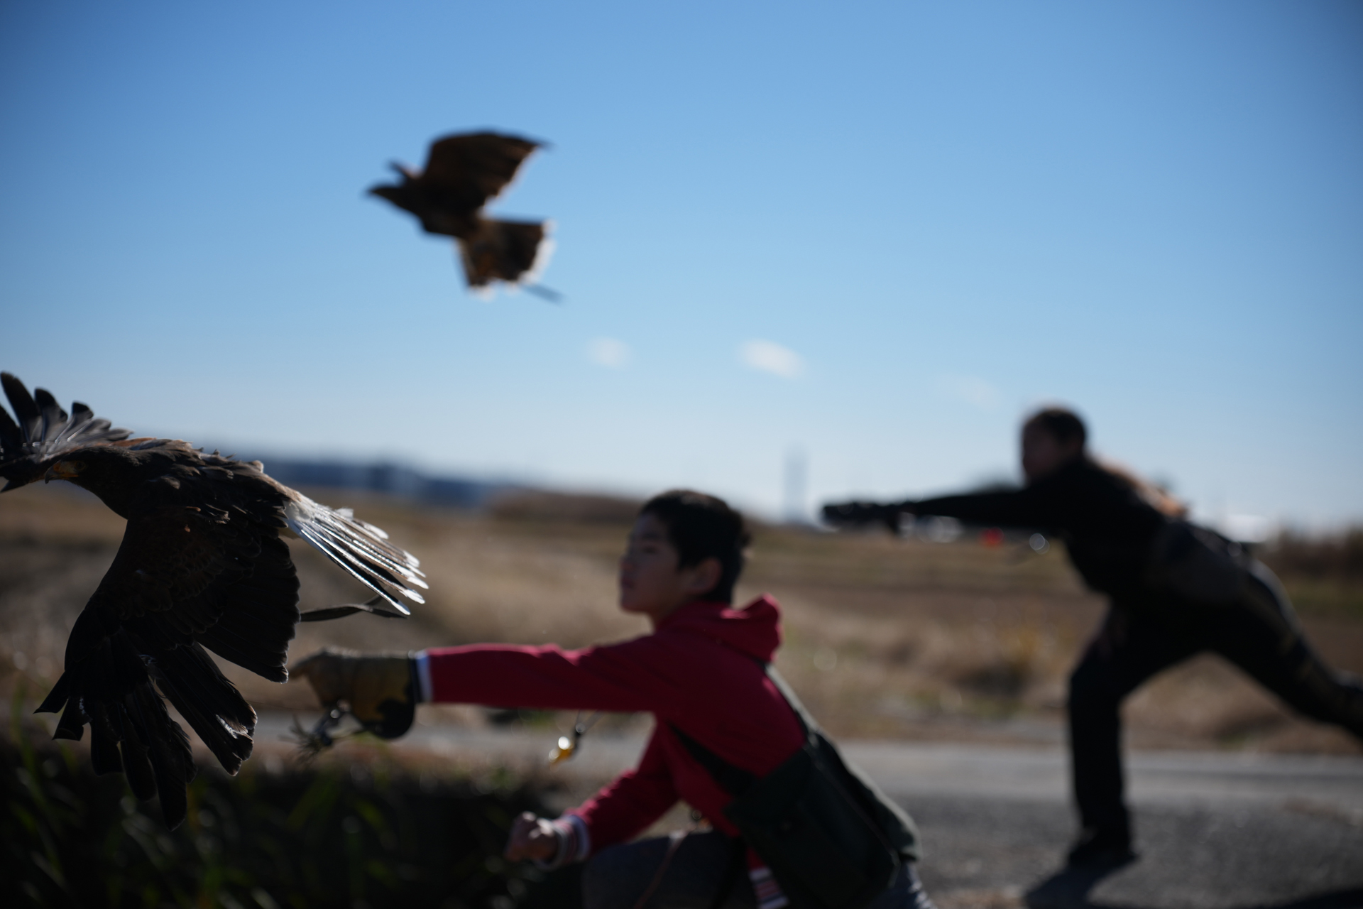
[{"label": "dark trousers of the lunging person on the road", "polygon": [[1130,841],[1118,710],[1146,679],[1205,650],[1299,713],[1363,739],[1363,685],[1325,665],[1266,567],[1254,566],[1244,594],[1229,605],[1114,606],[1070,676],[1071,771],[1085,831]]}]

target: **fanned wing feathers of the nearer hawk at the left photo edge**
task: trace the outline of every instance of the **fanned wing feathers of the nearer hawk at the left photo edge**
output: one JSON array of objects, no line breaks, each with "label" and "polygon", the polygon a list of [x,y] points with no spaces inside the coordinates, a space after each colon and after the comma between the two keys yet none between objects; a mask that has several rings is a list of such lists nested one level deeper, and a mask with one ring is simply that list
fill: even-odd
[{"label": "fanned wing feathers of the nearer hawk at the left photo edge", "polygon": [[132,435],[95,417],[79,401],[71,405],[68,414],[46,388],[37,388],[30,395],[23,383],[8,372],[0,372],[0,386],[4,386],[14,407],[14,417],[0,407],[0,478],[5,480],[4,489],[41,478],[53,458]]}]

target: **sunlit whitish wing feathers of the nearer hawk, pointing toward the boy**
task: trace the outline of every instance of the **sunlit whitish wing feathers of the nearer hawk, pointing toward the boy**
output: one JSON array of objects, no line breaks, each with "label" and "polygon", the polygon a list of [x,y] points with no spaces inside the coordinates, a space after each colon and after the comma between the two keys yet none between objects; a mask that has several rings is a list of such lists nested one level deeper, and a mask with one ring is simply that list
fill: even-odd
[{"label": "sunlit whitish wing feathers of the nearer hawk, pointing toward the boy", "polygon": [[421,563],[410,552],[388,542],[388,534],[356,518],[349,508],[328,508],[296,489],[279,485],[289,496],[284,508],[285,523],[298,537],[311,542],[327,559],[379,594],[384,602],[412,615],[399,597],[425,602],[414,587],[427,589]]}]

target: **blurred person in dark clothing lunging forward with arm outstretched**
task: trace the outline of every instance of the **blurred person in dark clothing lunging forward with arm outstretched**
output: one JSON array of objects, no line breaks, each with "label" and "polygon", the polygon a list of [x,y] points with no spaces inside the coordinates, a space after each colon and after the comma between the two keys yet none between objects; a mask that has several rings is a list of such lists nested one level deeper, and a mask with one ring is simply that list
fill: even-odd
[{"label": "blurred person in dark clothing lunging forward with arm outstretched", "polygon": [[1122,700],[1193,654],[1217,653],[1299,713],[1363,739],[1363,685],[1328,666],[1307,642],[1272,571],[1243,546],[1183,521],[1161,491],[1092,458],[1071,412],[1048,409],[1022,427],[1015,492],[942,496],[823,508],[836,525],[939,515],[1059,536],[1070,560],[1111,608],[1070,676],[1074,799],[1081,833],[1073,867],[1115,867],[1135,857],[1123,799]]}]

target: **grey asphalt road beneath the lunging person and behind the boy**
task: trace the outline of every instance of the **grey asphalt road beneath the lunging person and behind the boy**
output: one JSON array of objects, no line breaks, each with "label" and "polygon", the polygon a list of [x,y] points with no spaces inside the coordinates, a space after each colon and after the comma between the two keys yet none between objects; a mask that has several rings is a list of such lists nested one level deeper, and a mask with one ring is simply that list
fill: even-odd
[{"label": "grey asphalt road beneath the lunging person and behind the boy", "polygon": [[[279,741],[290,721],[262,717],[258,741]],[[643,745],[590,735],[547,770],[556,735],[418,725],[395,747],[541,773],[571,804]],[[1074,834],[1062,750],[849,741],[844,752],[917,820],[940,909],[1363,908],[1363,758],[1137,752],[1127,773],[1141,859],[1085,879],[1058,874]]]}]

